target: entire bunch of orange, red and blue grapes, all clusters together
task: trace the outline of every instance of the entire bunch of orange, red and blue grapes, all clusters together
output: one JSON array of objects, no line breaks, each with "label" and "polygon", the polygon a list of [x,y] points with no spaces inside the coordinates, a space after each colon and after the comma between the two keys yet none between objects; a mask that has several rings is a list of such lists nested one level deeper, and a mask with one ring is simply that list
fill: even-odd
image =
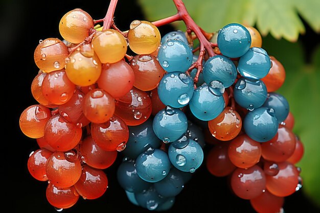
[{"label": "entire bunch of orange, red and blue grapes, all clusters together", "polygon": [[170,18],[134,20],[122,32],[113,22],[115,2],[101,20],[67,12],[62,39],[40,40],[34,52],[38,103],[19,124],[39,145],[28,169],[48,181],[49,203],[70,208],[80,196],[101,197],[103,170],[121,152],[117,178],[128,200],[170,209],[201,166],[206,141],[214,145],[206,156],[210,173],[230,175],[233,192],[258,212],[279,211],[283,197],[302,186],[294,164],[303,145],[292,133],[287,100],[275,92],[285,70],[261,48],[259,32],[231,23],[209,34],[190,16],[173,16],[187,32],[161,36],[156,26]]}]

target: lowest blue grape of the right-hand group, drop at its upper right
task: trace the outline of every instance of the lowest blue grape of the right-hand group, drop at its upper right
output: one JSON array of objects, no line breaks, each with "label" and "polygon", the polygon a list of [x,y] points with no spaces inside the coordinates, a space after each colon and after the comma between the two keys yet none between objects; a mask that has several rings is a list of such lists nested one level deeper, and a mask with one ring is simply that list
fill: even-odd
[{"label": "lowest blue grape of the right-hand group, drop at its upper right", "polygon": [[275,110],[260,107],[248,112],[243,121],[245,133],[258,142],[266,142],[272,139],[278,131],[278,120]]}]

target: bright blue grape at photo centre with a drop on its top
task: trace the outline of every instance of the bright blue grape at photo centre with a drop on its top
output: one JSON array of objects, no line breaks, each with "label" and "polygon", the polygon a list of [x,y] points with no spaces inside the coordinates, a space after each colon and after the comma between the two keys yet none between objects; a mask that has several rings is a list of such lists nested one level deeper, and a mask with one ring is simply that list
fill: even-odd
[{"label": "bright blue grape at photo centre with a drop on its top", "polygon": [[165,143],[179,139],[187,129],[187,116],[180,109],[167,106],[154,116],[153,131]]}]

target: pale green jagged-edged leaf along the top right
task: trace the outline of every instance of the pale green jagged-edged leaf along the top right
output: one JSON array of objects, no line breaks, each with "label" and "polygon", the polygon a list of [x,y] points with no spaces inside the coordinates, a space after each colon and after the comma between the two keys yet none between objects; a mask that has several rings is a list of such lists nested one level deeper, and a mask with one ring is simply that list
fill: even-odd
[{"label": "pale green jagged-edged leaf along the top right", "polygon": [[[154,21],[176,13],[171,0],[139,0],[148,20]],[[257,26],[262,35],[296,41],[305,28],[299,14],[320,32],[318,0],[184,0],[191,17],[205,31],[215,32],[231,22]],[[185,30],[182,21],[175,27]]]}]

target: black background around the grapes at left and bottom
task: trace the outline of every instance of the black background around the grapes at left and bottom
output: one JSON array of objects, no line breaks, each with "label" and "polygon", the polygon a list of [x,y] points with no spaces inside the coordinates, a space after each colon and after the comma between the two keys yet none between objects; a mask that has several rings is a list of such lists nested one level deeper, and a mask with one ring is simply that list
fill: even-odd
[{"label": "black background around the grapes at left and bottom", "polygon": [[[33,52],[40,39],[60,38],[58,24],[68,11],[81,8],[94,19],[103,18],[109,1],[5,1],[1,3],[1,53],[2,88],[2,195],[6,200],[2,207],[6,212],[56,212],[45,197],[46,182],[31,177],[27,169],[29,153],[38,149],[36,140],[28,138],[19,129],[19,116],[30,105],[36,104],[30,86],[38,68]],[[115,12],[115,22],[121,30],[127,30],[130,22],[144,19],[135,1],[120,0]],[[150,20],[152,21],[152,20]],[[173,30],[170,26],[160,27],[162,35]],[[314,46],[318,36],[308,27],[301,37],[306,52]],[[210,146],[204,149],[207,153]],[[105,172],[109,188],[103,197],[96,200],[79,199],[78,203],[63,212],[149,212],[131,204],[120,187],[116,171],[122,154]],[[315,168],[316,169],[316,168]],[[285,212],[319,212],[301,191],[285,198]],[[255,212],[249,201],[234,196],[227,186],[226,178],[212,176],[205,164],[195,172],[184,190],[176,197],[170,212]]]}]

